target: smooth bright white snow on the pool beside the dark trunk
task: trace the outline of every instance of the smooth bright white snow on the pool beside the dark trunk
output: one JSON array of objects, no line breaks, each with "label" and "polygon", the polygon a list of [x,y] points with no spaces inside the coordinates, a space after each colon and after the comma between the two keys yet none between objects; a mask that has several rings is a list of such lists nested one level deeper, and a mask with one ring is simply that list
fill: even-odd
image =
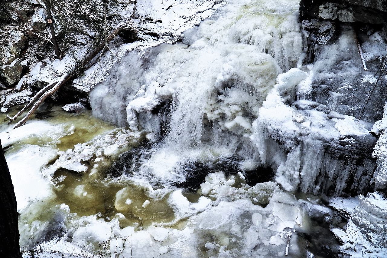
[{"label": "smooth bright white snow on the pool beside the dark trunk", "polygon": [[[55,160],[58,139],[71,134],[61,124],[51,125],[44,121],[29,121],[14,130],[2,128],[0,132],[17,201],[18,210],[23,210],[30,201],[46,198],[52,194],[50,177],[41,172],[47,163]],[[39,144],[39,143],[46,144]]]}]

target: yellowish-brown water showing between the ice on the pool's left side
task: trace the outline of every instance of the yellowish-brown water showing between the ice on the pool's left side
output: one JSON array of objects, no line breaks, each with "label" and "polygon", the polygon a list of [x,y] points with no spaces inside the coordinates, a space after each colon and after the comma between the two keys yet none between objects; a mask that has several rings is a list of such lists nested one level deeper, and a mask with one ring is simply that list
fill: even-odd
[{"label": "yellowish-brown water showing between the ice on the pool's left side", "polygon": [[[12,116],[16,112],[17,110],[10,112],[9,115]],[[0,114],[0,119],[0,121],[6,119],[6,115]],[[30,122],[36,120],[38,119],[33,118]],[[98,135],[108,134],[115,128],[93,117],[90,111],[71,114],[64,112],[60,107],[54,107],[50,117],[44,121],[53,126],[63,124],[65,131],[74,126],[74,133],[58,139],[29,137],[12,146],[12,152],[22,150],[24,144],[39,146],[49,144],[53,147],[53,151],[65,151],[73,149],[77,143],[86,143]],[[13,124],[3,123],[1,131],[10,129]],[[122,151],[125,150],[128,148],[124,148]],[[54,162],[55,160],[50,163]],[[28,213],[22,214],[20,223],[31,224],[34,220],[47,221],[53,216],[58,205],[62,203],[69,206],[70,213],[76,213],[78,216],[97,214],[98,217],[109,220],[116,213],[122,213],[125,218],[120,219],[121,227],[134,223],[146,227],[153,222],[171,222],[175,219],[173,209],[167,203],[168,194],[161,200],[152,200],[147,196],[144,188],[140,186],[106,178],[105,170],[113,162],[114,160],[106,158],[102,162],[103,165],[100,162],[98,169],[89,169],[85,173],[58,169],[52,177],[52,195],[46,200],[31,204],[27,208]],[[87,165],[92,168],[93,164]],[[192,193],[186,193],[186,196],[193,202],[199,199]]]}]

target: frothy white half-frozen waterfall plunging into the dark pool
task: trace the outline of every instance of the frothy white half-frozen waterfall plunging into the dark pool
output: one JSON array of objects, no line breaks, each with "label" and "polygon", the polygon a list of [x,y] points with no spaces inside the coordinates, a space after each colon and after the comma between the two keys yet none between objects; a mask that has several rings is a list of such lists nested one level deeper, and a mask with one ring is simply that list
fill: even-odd
[{"label": "frothy white half-frozen waterfall plunging into the dark pool", "polygon": [[[184,181],[188,160],[238,155],[241,165],[257,164],[252,122],[281,69],[299,60],[297,13],[297,1],[228,1],[188,30],[183,44],[124,57],[110,79],[93,89],[93,114],[145,131],[156,142],[139,174],[165,180],[163,185]],[[152,110],[164,103],[171,103],[168,132],[160,136],[160,117]]]}]

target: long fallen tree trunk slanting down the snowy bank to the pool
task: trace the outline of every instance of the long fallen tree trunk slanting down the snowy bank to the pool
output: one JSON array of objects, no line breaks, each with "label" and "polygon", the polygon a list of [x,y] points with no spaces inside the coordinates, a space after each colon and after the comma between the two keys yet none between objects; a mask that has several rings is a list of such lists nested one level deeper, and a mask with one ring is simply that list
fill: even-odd
[{"label": "long fallen tree trunk slanting down the snowy bank to the pool", "polygon": [[41,89],[34,96],[34,98],[31,101],[29,101],[29,103],[27,103],[27,105],[21,111],[19,111],[14,117],[9,117],[9,119],[10,119],[9,123],[11,123],[13,120],[15,120],[17,117],[19,117],[21,114],[23,114],[28,108],[31,107],[31,109],[28,111],[26,116],[24,116],[22,120],[20,120],[17,124],[15,124],[15,126],[12,129],[15,129],[15,128],[20,127],[23,124],[25,124],[27,122],[27,120],[29,119],[29,117],[31,117],[31,115],[34,114],[36,109],[38,109],[39,105],[41,103],[43,103],[43,101],[45,101],[45,99],[48,96],[50,96],[53,93],[55,93],[55,91],[57,91],[68,80],[74,78],[77,74],[79,74],[84,69],[84,67],[99,52],[103,51],[105,49],[105,47],[107,47],[107,44],[111,40],[113,40],[123,30],[130,30],[130,31],[133,31],[135,33],[138,32],[137,29],[135,29],[133,26],[131,26],[129,24],[120,24],[120,25],[117,26],[117,28],[115,28],[115,29],[111,30],[109,33],[107,33],[106,38],[101,40],[98,43],[98,45],[96,46],[96,48],[94,48],[94,50],[92,50],[90,53],[88,53],[86,55],[86,57],[83,58],[83,60],[81,60],[80,62],[75,64],[74,67],[72,69],[70,69],[70,71],[68,71],[67,74],[62,76],[58,82],[51,83],[51,84],[47,85],[46,87],[44,87],[43,89]]}]

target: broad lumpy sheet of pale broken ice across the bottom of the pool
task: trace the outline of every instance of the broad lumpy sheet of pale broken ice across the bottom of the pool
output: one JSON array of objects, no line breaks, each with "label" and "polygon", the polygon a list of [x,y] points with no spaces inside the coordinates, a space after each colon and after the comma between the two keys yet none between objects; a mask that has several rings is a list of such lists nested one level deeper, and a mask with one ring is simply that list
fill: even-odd
[{"label": "broad lumpy sheet of pale broken ice across the bottom of the pool", "polygon": [[[71,250],[74,255],[78,255],[77,250],[81,248],[86,257],[91,253],[115,258],[285,257],[286,249],[290,257],[299,257],[305,250],[298,246],[296,231],[307,232],[309,229],[303,208],[295,196],[279,190],[272,182],[255,187],[243,182],[241,175],[226,178],[217,172],[207,176],[201,186],[202,196],[197,201],[189,201],[181,189],[172,191],[168,203],[176,220],[171,225],[125,225],[126,218],[122,213],[104,220],[98,215],[82,217],[70,213],[67,205],[57,205],[51,209],[56,214],[56,223],[63,227],[62,236],[55,239],[55,243],[46,241],[41,247],[45,251],[67,253],[66,250]],[[126,205],[137,201],[135,196],[128,201],[123,193],[117,194],[126,199]],[[228,201],[225,198],[229,198]],[[144,205],[152,205],[154,201],[149,199]],[[254,203],[262,203],[265,208]],[[36,215],[31,213],[32,219],[37,218]],[[35,240],[37,236],[44,239],[50,227],[47,224],[37,227],[38,220],[35,225],[24,234]]]}]

